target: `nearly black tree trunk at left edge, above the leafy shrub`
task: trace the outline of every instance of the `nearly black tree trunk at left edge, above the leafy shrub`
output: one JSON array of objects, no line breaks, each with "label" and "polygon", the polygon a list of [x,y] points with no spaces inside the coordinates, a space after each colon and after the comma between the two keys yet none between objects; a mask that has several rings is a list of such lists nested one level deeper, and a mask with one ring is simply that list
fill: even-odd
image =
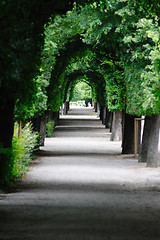
[{"label": "nearly black tree trunk at left edge, above the leafy shrub", "polygon": [[4,148],[12,148],[14,107],[13,100],[9,100],[5,104],[2,103],[0,106],[0,146]]}]

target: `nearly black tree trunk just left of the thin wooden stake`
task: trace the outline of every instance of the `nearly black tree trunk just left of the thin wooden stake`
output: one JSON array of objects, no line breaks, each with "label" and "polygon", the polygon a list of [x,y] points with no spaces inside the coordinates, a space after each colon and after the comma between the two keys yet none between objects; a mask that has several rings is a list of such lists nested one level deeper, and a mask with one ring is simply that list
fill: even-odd
[{"label": "nearly black tree trunk just left of the thin wooden stake", "polygon": [[135,116],[125,113],[122,140],[122,154],[134,153],[134,118]]}]

